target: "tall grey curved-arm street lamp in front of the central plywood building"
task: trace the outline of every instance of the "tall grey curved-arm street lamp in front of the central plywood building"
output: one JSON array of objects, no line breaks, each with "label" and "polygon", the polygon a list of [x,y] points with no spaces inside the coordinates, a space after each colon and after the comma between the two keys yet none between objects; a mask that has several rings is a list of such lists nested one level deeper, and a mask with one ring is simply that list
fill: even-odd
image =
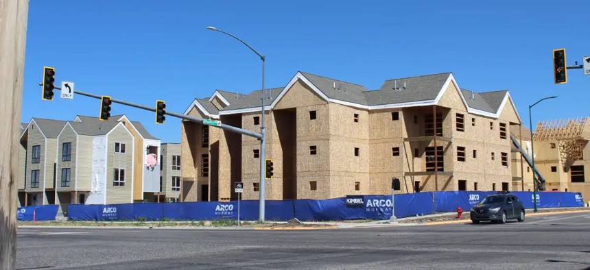
[{"label": "tall grey curved-arm street lamp in front of the central plywood building", "polygon": [[265,179],[264,179],[264,162],[266,160],[266,131],[265,131],[265,121],[264,121],[264,98],[266,97],[265,94],[265,89],[264,89],[264,62],[266,62],[266,57],[261,55],[260,53],[258,53],[258,51],[256,51],[254,48],[250,47],[250,45],[248,45],[248,43],[244,42],[244,40],[239,39],[237,36],[234,36],[232,34],[229,34],[228,32],[224,32],[220,29],[217,29],[213,26],[209,26],[207,27],[207,29],[211,30],[211,31],[217,31],[223,34],[226,34],[228,36],[231,36],[232,38],[237,39],[239,42],[241,42],[242,44],[246,45],[246,47],[248,47],[248,49],[254,51],[254,53],[257,54],[257,56],[260,57],[260,60],[262,60],[262,90],[261,90],[261,124],[260,124],[260,134],[262,135],[262,138],[260,138],[260,188],[259,188],[259,197],[260,197],[260,204],[259,204],[259,221],[264,222],[264,186],[265,186]]}]

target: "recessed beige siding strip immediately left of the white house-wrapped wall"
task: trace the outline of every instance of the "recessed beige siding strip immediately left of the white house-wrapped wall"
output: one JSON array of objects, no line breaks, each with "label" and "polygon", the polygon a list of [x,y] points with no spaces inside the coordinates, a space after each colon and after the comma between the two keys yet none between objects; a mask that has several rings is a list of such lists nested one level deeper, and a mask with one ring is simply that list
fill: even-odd
[{"label": "recessed beige siding strip immediately left of the white house-wrapped wall", "polygon": [[91,191],[92,187],[92,140],[91,136],[78,136],[75,184],[78,191]]}]

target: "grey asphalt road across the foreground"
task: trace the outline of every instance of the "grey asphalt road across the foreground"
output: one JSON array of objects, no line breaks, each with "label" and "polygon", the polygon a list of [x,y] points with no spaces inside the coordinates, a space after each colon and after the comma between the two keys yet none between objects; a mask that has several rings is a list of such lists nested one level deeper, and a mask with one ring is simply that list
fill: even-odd
[{"label": "grey asphalt road across the foreground", "polygon": [[21,228],[19,269],[590,269],[590,213],[338,230]]}]

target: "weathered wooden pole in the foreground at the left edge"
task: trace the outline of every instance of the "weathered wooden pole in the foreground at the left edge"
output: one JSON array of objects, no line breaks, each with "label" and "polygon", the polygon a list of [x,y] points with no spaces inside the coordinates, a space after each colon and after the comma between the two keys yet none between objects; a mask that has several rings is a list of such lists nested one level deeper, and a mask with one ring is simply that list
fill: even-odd
[{"label": "weathered wooden pole in the foreground at the left edge", "polygon": [[[0,269],[16,268],[16,194],[29,0],[0,0]],[[40,74],[40,73],[39,73]]]}]

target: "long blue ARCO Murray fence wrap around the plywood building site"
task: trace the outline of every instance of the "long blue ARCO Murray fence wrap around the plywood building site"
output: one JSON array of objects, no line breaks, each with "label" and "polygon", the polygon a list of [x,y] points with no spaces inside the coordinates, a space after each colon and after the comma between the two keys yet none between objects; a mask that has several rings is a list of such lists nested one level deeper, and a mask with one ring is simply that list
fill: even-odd
[{"label": "long blue ARCO Murray fence wrap around the plywood building site", "polygon": [[[411,217],[435,212],[454,212],[457,207],[469,211],[487,195],[496,192],[455,191],[425,192],[394,196],[395,216]],[[532,192],[512,192],[525,208],[533,208]],[[541,192],[536,194],[537,208],[582,207],[580,193]],[[390,219],[392,212],[390,195],[351,195],[336,199],[298,199],[266,201],[266,220],[287,221],[338,221],[351,219]],[[28,211],[28,210],[27,210]],[[25,212],[27,212],[25,211]],[[38,213],[37,213],[38,214]],[[55,216],[55,212],[53,212]],[[76,221],[121,221],[121,220],[217,220],[237,219],[237,201],[143,203],[84,205],[71,204],[68,219]],[[259,201],[240,201],[241,220],[259,218]]]}]

